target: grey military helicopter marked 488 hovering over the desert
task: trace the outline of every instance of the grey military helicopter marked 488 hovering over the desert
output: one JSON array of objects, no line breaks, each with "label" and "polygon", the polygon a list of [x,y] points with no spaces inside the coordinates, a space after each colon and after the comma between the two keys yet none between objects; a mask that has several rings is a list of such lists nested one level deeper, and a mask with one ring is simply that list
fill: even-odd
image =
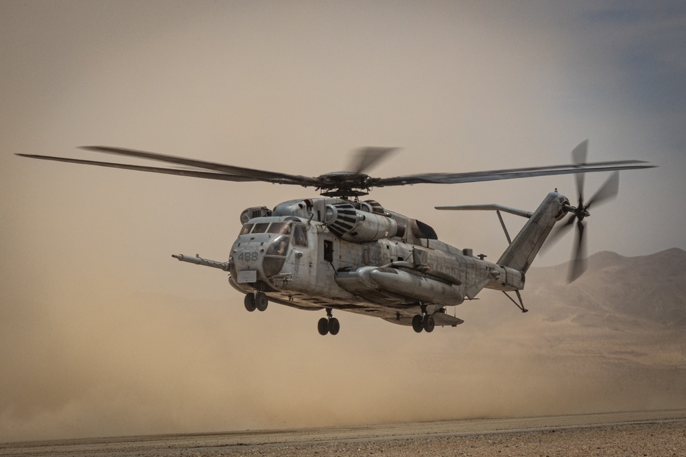
[{"label": "grey military helicopter marked 488 hovering over the desert", "polygon": [[[190,158],[134,151],[115,147],[84,147],[88,151],[131,158],[158,160],[185,166],[183,169],[134,164],[96,162],[73,158],[19,156],[119,169],[166,173],[234,182],[270,182],[314,187],[320,197],[248,208],[240,215],[241,230],[228,261],[199,256],[174,255],[183,262],[221,269],[228,282],[245,294],[248,311],[267,309],[268,303],[299,310],[325,311],[318,321],[322,335],[338,334],[340,322],[333,311],[348,311],[379,317],[399,325],[412,325],[415,332],[431,332],[435,325],[456,326],[447,307],[474,299],[483,288],[503,291],[521,311],[525,273],[546,238],[558,238],[575,225],[576,245],[569,271],[575,280],[585,268],[584,219],[591,205],[614,197],[619,170],[650,168],[641,160],[587,162],[588,141],[572,151],[572,164],[469,173],[424,173],[378,178],[364,171],[396,148],[360,149],[347,172],[318,177],[289,175],[247,169]],[[188,167],[192,167],[189,169]],[[584,173],[613,171],[590,199],[584,199]],[[360,201],[371,188],[407,184],[458,184],[506,180],[543,175],[576,175],[578,198],[573,206],[564,195],[548,193],[535,211],[497,204],[436,207],[440,210],[495,210],[510,243],[497,262],[474,256],[472,249],[458,249],[443,243],[429,225],[383,208],[374,200]],[[510,240],[500,212],[528,218]],[[564,223],[554,225],[569,215]],[[508,292],[514,292],[515,301]]]}]

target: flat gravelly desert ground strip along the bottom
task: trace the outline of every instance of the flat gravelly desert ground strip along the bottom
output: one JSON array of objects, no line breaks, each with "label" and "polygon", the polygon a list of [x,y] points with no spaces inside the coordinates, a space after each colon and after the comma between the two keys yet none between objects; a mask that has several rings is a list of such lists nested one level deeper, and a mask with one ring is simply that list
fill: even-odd
[{"label": "flat gravelly desert ground strip along the bottom", "polygon": [[36,441],[2,456],[686,456],[686,410]]}]

